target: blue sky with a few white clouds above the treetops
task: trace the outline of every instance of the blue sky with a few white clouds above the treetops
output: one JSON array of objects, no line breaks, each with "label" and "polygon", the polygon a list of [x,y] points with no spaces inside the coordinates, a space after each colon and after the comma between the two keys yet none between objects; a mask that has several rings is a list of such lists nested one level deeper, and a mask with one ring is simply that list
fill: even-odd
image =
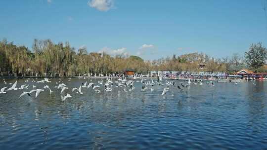
[{"label": "blue sky with a few white clouds above the treetops", "polygon": [[146,60],[204,52],[243,55],[267,47],[262,0],[0,0],[0,39],[69,41],[89,52]]}]

